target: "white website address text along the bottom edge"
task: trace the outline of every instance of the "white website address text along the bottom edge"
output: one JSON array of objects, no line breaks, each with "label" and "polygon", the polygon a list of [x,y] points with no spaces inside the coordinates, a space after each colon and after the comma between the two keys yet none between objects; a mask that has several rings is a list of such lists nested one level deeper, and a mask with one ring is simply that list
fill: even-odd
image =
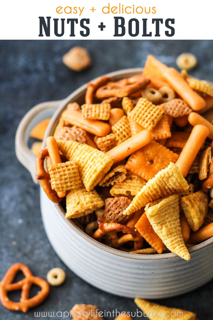
[{"label": "white website address text along the bottom edge", "polygon": [[74,312],[69,312],[69,311],[36,311],[34,312],[34,316],[37,318],[49,318],[49,317],[57,317],[57,318],[61,318],[61,319],[65,319],[68,317],[80,317],[80,318],[84,318],[84,319],[92,319],[95,318],[97,316],[99,317],[117,317],[117,316],[125,316],[125,315],[131,316],[131,317],[138,317],[138,318],[148,318],[149,316],[152,317],[162,317],[162,318],[169,318],[169,317],[178,317],[179,319],[181,319],[183,317],[183,312],[182,311],[165,311],[165,312],[156,312],[154,310],[150,310],[148,312],[143,312],[141,310],[136,310],[133,312],[119,312],[117,309],[112,310],[112,311],[99,311],[99,310],[90,310],[90,311],[74,311]]}]

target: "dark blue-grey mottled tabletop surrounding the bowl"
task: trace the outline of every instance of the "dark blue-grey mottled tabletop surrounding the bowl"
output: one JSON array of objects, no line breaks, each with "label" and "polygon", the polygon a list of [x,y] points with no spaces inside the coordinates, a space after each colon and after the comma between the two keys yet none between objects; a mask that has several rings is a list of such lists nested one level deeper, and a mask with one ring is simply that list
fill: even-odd
[{"label": "dark blue-grey mottled tabletop surrounding the bowl", "polygon": [[[61,60],[74,45],[86,47],[92,57],[92,67],[81,73],[69,70]],[[67,275],[65,283],[51,287],[48,299],[28,314],[12,312],[0,305],[1,320],[34,319],[34,311],[69,311],[75,303],[96,304],[100,310],[108,311],[136,310],[133,300],[92,287],[57,257],[43,229],[39,188],[16,159],[14,137],[21,118],[34,105],[63,99],[81,84],[104,73],[142,67],[147,54],[175,67],[175,59],[182,52],[193,52],[198,58],[193,75],[213,81],[213,41],[210,40],[0,41],[0,279],[15,262],[27,264],[34,275],[43,278],[53,267],[63,268]],[[16,245],[12,244],[14,241]],[[213,318],[212,294],[213,281],[196,291],[159,300],[159,303],[188,309],[196,312],[200,320],[210,320]]]}]

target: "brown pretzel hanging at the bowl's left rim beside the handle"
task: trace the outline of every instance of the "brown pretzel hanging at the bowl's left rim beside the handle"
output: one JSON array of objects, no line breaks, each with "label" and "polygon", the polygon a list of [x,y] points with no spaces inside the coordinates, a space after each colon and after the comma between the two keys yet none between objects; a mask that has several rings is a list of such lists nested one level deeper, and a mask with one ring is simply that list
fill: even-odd
[{"label": "brown pretzel hanging at the bowl's left rim beside the handle", "polygon": [[44,160],[47,156],[49,156],[47,149],[41,150],[37,155],[35,160],[35,168],[37,172],[36,178],[40,181],[41,186],[48,198],[52,202],[59,203],[61,202],[62,198],[57,196],[56,191],[51,188],[49,173],[46,172],[44,168]]}]

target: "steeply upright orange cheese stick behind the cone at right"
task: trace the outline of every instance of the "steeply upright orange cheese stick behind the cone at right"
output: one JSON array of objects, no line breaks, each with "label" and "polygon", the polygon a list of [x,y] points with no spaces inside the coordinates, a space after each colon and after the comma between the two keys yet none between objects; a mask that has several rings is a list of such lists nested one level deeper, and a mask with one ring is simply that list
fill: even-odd
[{"label": "steeply upright orange cheese stick behind the cone at right", "polygon": [[189,168],[208,135],[209,129],[204,125],[198,124],[192,129],[192,132],[175,163],[184,177],[186,177]]}]

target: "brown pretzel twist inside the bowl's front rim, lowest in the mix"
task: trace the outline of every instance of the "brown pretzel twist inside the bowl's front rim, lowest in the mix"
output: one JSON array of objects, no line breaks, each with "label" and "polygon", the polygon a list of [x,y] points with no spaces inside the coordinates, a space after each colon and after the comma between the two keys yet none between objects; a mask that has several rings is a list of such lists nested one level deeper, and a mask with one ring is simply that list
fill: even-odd
[{"label": "brown pretzel twist inside the bowl's front rim, lowest in the mix", "polygon": [[[93,234],[94,239],[100,239],[104,235],[109,235],[114,248],[119,248],[122,244],[125,244],[128,241],[133,241],[134,250],[141,249],[143,245],[143,238],[136,229],[115,222],[103,223],[100,220],[98,223],[99,228]],[[126,233],[126,235],[118,238],[116,233],[118,231],[122,231],[123,233]]]}]

